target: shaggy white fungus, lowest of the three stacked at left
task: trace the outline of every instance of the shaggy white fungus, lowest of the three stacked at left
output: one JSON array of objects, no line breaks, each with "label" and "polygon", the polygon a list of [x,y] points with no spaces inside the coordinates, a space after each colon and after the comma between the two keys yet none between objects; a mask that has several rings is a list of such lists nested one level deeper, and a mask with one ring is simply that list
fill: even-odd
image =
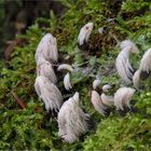
[{"label": "shaggy white fungus, lowest of the three stacked at left", "polygon": [[35,83],[35,88],[38,96],[43,100],[45,109],[49,112],[58,112],[61,104],[63,96],[59,90],[47,78],[38,76]]}]

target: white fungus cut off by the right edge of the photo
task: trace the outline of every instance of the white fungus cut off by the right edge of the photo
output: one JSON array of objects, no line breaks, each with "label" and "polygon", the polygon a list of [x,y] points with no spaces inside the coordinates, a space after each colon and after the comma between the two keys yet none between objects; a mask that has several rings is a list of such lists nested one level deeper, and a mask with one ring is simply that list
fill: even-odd
[{"label": "white fungus cut off by the right edge of the photo", "polygon": [[149,49],[140,60],[139,69],[149,73],[151,71],[151,49]]}]

